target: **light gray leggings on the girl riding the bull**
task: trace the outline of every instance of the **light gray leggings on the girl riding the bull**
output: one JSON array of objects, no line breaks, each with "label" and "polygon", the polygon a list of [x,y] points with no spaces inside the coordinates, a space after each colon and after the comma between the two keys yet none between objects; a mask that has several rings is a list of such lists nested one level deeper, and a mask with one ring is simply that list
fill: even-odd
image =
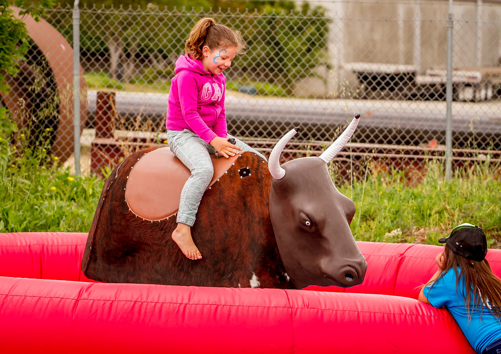
[{"label": "light gray leggings on the girl riding the bull", "polygon": [[[228,135],[228,138],[230,137]],[[244,142],[236,138],[235,140],[235,145],[242,148],[241,152],[255,152],[266,161],[266,157],[263,154]],[[207,144],[196,133],[188,129],[182,131],[167,130],[167,142],[174,155],[191,171],[191,175],[181,191],[176,221],[193,226],[203,193],[209,186],[214,175],[214,168],[212,167],[209,154],[215,154],[216,150],[212,145]]]}]

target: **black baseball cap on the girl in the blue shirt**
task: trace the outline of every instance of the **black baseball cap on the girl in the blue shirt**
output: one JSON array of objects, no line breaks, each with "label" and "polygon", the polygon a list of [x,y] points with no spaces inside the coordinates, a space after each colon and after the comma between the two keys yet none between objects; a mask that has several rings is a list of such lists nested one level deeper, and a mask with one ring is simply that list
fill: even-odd
[{"label": "black baseball cap on the girl in the blue shirt", "polygon": [[438,242],[446,243],[452,252],[472,261],[483,261],[487,254],[487,238],[482,229],[468,223],[456,226]]}]

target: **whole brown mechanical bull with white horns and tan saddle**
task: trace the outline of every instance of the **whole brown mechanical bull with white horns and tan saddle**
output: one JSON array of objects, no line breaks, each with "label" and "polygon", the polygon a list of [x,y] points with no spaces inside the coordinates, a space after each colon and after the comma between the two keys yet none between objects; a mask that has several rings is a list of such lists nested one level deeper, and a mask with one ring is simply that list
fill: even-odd
[{"label": "whole brown mechanical bull with white horns and tan saddle", "polygon": [[187,259],[171,239],[189,170],[168,147],[127,157],[106,181],[82,259],[98,281],[219,287],[349,287],[367,263],[350,223],[355,204],[334,186],[327,163],[343,148],[359,115],[319,157],[267,164],[254,153],[217,158],[214,178],[191,228],[204,257]]}]

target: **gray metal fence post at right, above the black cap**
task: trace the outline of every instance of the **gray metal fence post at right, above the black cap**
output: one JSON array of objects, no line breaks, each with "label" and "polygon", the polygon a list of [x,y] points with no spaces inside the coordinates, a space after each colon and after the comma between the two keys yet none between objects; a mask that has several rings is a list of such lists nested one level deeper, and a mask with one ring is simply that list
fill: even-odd
[{"label": "gray metal fence post at right, above the black cap", "polygon": [[452,169],[452,1],[449,0],[447,19],[447,81],[445,84],[446,126],[445,126],[445,180],[450,180]]}]

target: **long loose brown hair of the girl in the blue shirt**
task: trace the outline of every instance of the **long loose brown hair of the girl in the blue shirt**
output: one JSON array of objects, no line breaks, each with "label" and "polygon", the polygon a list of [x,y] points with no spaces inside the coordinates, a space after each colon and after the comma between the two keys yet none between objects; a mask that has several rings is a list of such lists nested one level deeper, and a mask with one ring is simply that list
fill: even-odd
[{"label": "long loose brown hair of the girl in the blue shirt", "polygon": [[[456,274],[456,287],[459,288],[459,280],[463,281],[463,299],[466,305],[468,321],[475,307],[486,305],[490,313],[501,321],[501,280],[499,280],[490,269],[489,262],[472,261],[452,252],[449,246],[445,245],[445,267],[437,280],[449,270],[453,269]],[[458,267],[461,269],[459,273]],[[436,282],[432,281],[431,286]],[[430,284],[427,284],[430,285]],[[459,296],[459,294],[458,294]],[[469,306],[472,302],[473,306]],[[480,309],[480,318],[481,318]]]}]

